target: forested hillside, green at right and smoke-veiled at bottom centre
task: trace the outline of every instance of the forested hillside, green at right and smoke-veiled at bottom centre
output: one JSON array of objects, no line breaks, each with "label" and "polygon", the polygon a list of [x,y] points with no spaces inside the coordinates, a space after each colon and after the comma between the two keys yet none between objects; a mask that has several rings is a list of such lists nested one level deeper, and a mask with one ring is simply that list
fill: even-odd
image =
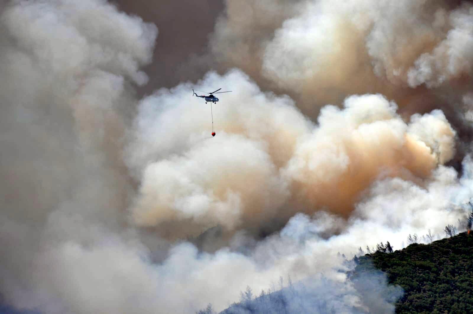
[{"label": "forested hillside, green at right and smoke-veiled at bottom centre", "polygon": [[[394,252],[389,243],[379,244],[376,252],[355,256],[353,261],[356,267],[348,272],[348,279],[356,293],[345,291],[328,298],[337,290],[331,287],[333,281],[326,280],[323,287],[311,287],[309,280],[282,288],[281,278],[280,290],[254,296],[248,287],[241,301],[222,313],[473,313],[473,232],[452,233],[431,244],[413,243]],[[336,299],[353,295],[361,300],[359,306],[337,308]],[[198,313],[215,312],[209,305]]]}]

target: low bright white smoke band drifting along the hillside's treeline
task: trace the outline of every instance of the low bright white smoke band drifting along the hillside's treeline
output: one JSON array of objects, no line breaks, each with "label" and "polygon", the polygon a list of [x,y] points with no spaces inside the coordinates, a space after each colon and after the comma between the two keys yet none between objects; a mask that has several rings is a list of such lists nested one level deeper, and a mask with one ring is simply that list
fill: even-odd
[{"label": "low bright white smoke band drifting along the hillside's treeline", "polygon": [[[354,307],[365,313],[370,306],[380,304],[364,303],[368,300],[363,299],[343,272],[352,265],[344,264],[337,253],[350,258],[359,254],[359,246],[365,249],[366,245],[373,247],[381,241],[401,249],[408,234],[422,236],[429,228],[435,237],[442,236],[446,224],[456,225],[457,219],[465,214],[463,209],[455,208],[455,204],[465,200],[457,198],[456,193],[471,189],[471,183],[464,181],[469,176],[470,173],[465,174],[458,180],[453,169],[440,167],[425,187],[399,178],[385,179],[373,185],[348,221],[327,212],[313,217],[298,214],[279,234],[258,242],[249,253],[239,252],[238,246],[213,254],[198,253],[190,244],[179,244],[158,269],[168,274],[169,280],[178,282],[166,291],[180,296],[182,304],[203,308],[211,302],[217,310],[237,300],[246,285],[259,295],[262,289],[271,289],[272,282],[278,287],[280,276],[287,287],[287,275],[294,282],[304,282],[322,273],[327,280],[325,285],[319,286],[317,281],[307,287],[319,296],[317,300],[325,300],[335,308]],[[322,297],[325,289],[333,294]],[[337,294],[339,297],[333,298]]]}]

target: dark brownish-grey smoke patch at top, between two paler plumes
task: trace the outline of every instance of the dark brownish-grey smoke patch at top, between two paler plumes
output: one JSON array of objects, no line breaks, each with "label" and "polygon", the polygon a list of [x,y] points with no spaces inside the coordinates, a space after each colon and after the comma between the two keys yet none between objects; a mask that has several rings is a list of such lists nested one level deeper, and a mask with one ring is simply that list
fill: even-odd
[{"label": "dark brownish-grey smoke patch at top, between two paler plumes", "polygon": [[131,15],[152,22],[159,29],[158,49],[153,61],[143,70],[149,84],[139,87],[140,94],[150,94],[159,87],[173,87],[181,81],[196,81],[209,67],[217,66],[206,58],[208,37],[223,10],[220,0],[114,0],[118,7]]}]

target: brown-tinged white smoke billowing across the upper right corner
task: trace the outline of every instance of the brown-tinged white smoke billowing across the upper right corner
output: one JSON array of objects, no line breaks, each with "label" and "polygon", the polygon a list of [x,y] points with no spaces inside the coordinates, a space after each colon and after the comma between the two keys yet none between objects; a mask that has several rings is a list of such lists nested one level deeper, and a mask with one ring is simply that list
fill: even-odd
[{"label": "brown-tinged white smoke billowing across the upper right corner", "polygon": [[411,114],[453,106],[471,82],[470,3],[264,2],[227,0],[211,49],[314,118],[351,94],[382,93]]}]

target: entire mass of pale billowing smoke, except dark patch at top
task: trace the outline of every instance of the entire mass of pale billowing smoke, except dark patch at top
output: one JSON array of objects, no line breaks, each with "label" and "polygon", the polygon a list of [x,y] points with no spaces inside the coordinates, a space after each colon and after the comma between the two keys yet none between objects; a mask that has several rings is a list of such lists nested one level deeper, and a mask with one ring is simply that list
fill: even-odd
[{"label": "entire mass of pale billowing smoke, except dark patch at top", "polygon": [[[104,0],[0,2],[5,304],[223,310],[289,275],[288,306],[393,310],[347,260],[465,218],[472,6],[250,2],[216,23],[219,72],[143,99],[156,26]],[[211,137],[191,93],[219,87]]]}]

